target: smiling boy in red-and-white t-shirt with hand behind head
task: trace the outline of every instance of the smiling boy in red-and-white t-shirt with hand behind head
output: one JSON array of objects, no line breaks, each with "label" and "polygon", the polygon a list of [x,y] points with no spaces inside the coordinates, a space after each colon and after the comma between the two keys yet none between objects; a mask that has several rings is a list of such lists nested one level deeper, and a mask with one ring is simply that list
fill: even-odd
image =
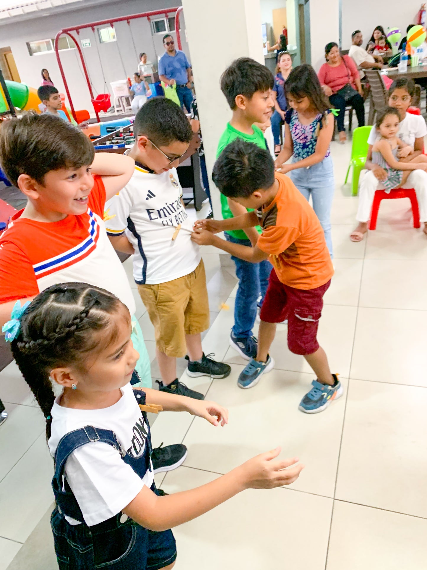
[{"label": "smiling boy in red-and-white t-shirt with hand behind head", "polygon": [[[23,304],[51,285],[101,287],[129,308],[139,385],[151,388],[132,289],[104,226],[105,202],[129,182],[133,158],[95,154],[88,137],[70,123],[49,113],[28,113],[2,124],[0,161],[28,200],[0,237],[0,327],[17,300]],[[154,472],[177,467],[186,454],[180,444],[153,450]]]}]

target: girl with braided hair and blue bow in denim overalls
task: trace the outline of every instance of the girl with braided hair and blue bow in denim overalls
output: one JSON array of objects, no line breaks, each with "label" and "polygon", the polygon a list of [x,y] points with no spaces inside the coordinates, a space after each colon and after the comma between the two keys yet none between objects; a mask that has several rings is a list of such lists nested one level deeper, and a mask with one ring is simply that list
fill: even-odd
[{"label": "girl with braided hair and blue bow in denim overalls", "polygon": [[[289,484],[302,469],[295,458],[271,461],[277,448],[202,487],[174,495],[158,491],[146,411],[186,411],[215,426],[227,424],[228,412],[215,402],[133,390],[129,382],[139,355],[131,328],[117,297],[85,283],[49,287],[22,308],[18,301],[3,327],[46,417],[60,570],[172,568],[170,527],[245,488]],[[63,387],[56,399],[52,380]]]}]

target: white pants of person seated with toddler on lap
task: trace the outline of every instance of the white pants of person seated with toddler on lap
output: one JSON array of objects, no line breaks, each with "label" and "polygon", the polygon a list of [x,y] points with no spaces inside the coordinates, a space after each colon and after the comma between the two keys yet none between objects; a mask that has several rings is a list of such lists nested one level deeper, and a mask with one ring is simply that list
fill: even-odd
[{"label": "white pants of person seated with toddler on lap", "polygon": [[[412,170],[402,188],[413,188],[415,190],[420,207],[420,222],[427,222],[427,172],[425,170]],[[367,222],[371,217],[375,190],[384,190],[384,186],[375,178],[372,170],[369,170],[363,177],[359,188],[359,207],[356,215],[358,222]]]}]

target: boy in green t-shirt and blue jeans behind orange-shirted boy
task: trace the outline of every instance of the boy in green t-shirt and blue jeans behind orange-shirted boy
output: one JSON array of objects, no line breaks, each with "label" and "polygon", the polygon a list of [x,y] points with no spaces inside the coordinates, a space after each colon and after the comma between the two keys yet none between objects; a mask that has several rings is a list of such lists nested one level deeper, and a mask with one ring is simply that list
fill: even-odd
[{"label": "boy in green t-shirt and blue jeans behind orange-shirted boy", "polygon": [[[221,75],[221,91],[227,98],[233,116],[219,140],[216,157],[237,137],[266,148],[264,133],[253,123],[265,123],[270,118],[273,109],[273,86],[272,73],[251,58],[236,59],[224,71]],[[247,210],[221,194],[221,211],[223,218],[227,219],[252,210]],[[225,239],[240,245],[254,246],[261,231],[260,226],[227,231]],[[261,306],[272,266],[268,260],[249,263],[233,256],[232,259],[236,264],[239,288],[230,345],[245,360],[251,360],[257,355],[257,340],[253,336],[252,328],[257,316],[258,299]]]}]

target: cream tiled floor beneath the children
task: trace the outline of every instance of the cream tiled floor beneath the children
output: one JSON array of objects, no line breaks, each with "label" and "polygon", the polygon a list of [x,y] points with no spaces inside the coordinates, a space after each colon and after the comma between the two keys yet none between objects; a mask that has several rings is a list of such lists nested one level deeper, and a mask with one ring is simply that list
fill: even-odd
[{"label": "cream tiled floor beneath the children", "polygon": [[[277,445],[282,457],[297,455],[306,468],[291,487],[245,491],[176,528],[177,570],[426,567],[427,241],[412,227],[409,202],[387,201],[377,230],[351,243],[357,198],[342,186],[350,144],[333,143],[332,156],[336,274],[319,340],[341,374],[344,396],[321,414],[298,411],[313,374],[288,351],[285,325],[271,351],[276,368],[255,388],[237,388],[244,361],[228,344],[236,279],[232,267],[221,266],[221,254],[205,248],[212,322],[203,347],[231,364],[232,374],[191,379],[184,361],[178,367],[189,386],[228,407],[230,421],[214,428],[185,413],[160,414],[154,445],[182,441],[188,457],[157,482],[167,492],[195,487]],[[126,270],[130,276],[130,262]],[[154,359],[153,328],[134,291]],[[228,310],[221,310],[224,302]],[[158,378],[155,361],[152,373]],[[52,461],[43,418],[14,364],[0,373],[0,394],[10,412],[0,428],[0,570],[53,570]]]}]

